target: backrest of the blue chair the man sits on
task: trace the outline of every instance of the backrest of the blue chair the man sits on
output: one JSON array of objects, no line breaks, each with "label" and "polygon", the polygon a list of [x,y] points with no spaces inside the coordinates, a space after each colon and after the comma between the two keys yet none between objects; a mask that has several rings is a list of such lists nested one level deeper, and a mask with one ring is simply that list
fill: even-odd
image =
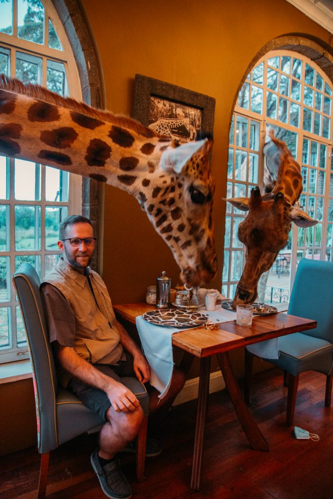
[{"label": "backrest of the blue chair the man sits on", "polygon": [[38,450],[40,452],[43,434],[47,435],[51,441],[54,440],[53,447],[57,447],[55,431],[57,378],[39,292],[40,281],[37,272],[29,263],[22,263],[13,274],[12,281],[22,313],[32,364]]}]

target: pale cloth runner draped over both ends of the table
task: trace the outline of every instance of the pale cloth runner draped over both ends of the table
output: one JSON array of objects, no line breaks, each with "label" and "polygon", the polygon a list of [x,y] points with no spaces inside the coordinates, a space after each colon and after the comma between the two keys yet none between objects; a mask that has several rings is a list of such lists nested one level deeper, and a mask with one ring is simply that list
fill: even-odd
[{"label": "pale cloth runner draped over both ends of the table", "polygon": [[[217,305],[214,311],[207,311],[205,307],[198,308],[197,311],[207,315],[207,319],[214,323],[227,322],[236,318],[236,312],[226,310],[221,305]],[[142,316],[136,318],[136,327],[144,354],[150,365],[150,383],[160,392],[159,398],[162,399],[171,383],[174,366],[172,335],[182,331],[183,328],[156,326],[144,320]],[[259,357],[271,359],[279,357],[278,338],[249,345],[247,348]]]}]

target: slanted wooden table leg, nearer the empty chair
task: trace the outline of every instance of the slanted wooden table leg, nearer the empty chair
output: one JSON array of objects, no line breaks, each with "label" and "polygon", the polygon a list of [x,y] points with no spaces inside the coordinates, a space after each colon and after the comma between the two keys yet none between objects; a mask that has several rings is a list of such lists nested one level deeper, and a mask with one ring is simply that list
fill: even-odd
[{"label": "slanted wooden table leg, nearer the empty chair", "polygon": [[217,354],[221,372],[228,389],[231,401],[242,425],[242,428],[247,436],[252,449],[257,451],[269,451],[269,444],[264,435],[259,430],[255,420],[250,414],[248,407],[245,404],[244,398],[240,392],[237,381],[235,379],[228,352]]}]

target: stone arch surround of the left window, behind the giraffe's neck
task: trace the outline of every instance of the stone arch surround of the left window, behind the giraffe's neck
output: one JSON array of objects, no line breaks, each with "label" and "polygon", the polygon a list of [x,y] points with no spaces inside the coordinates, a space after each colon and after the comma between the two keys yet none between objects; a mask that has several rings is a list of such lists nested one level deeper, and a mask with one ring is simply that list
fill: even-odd
[{"label": "stone arch surround of the left window, behind the giraffe's neck", "polygon": [[[64,26],[73,50],[82,89],[83,101],[97,107],[105,107],[105,93],[100,62],[85,12],[78,0],[52,0]],[[94,233],[102,240],[103,185],[96,180],[82,179],[82,215],[92,222]],[[101,244],[91,262],[92,268],[101,271]]]}]

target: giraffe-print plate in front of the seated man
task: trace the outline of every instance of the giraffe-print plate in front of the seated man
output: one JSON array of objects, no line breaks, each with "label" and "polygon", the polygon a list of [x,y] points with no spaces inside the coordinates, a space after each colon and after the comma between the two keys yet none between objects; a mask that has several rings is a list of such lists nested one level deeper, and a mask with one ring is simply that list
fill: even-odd
[{"label": "giraffe-print plate in front of the seated man", "polygon": [[207,322],[207,315],[199,312],[185,312],[164,308],[161,310],[151,310],[142,315],[142,318],[151,324],[167,327],[198,327]]}]

